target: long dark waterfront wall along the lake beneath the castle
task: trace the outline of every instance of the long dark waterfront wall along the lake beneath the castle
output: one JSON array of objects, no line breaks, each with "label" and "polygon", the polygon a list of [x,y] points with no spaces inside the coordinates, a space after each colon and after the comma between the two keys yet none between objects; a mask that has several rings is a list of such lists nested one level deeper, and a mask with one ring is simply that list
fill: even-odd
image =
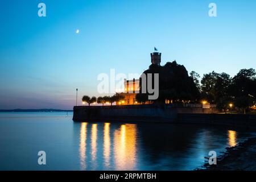
[{"label": "long dark waterfront wall along the lake beneath the castle", "polygon": [[168,122],[252,127],[256,115],[217,114],[217,109],[170,105],[75,106],[73,120],[80,122]]}]

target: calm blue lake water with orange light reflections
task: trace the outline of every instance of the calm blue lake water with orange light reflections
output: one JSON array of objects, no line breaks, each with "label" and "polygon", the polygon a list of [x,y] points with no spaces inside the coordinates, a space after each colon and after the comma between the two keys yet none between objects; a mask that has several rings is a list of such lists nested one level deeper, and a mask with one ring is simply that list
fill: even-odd
[{"label": "calm blue lake water with orange light reflections", "polygon": [[220,155],[253,135],[204,125],[79,123],[65,112],[0,113],[0,169],[192,170],[209,151]]}]

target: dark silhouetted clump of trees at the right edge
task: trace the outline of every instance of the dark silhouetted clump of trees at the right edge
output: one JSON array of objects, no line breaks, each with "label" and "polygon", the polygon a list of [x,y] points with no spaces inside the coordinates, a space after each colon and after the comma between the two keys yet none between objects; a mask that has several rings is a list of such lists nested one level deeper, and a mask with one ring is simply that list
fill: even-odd
[{"label": "dark silhouetted clump of trees at the right edge", "polygon": [[245,113],[255,103],[256,72],[253,68],[241,69],[231,78],[227,73],[211,72],[201,80],[202,97],[217,104],[219,109],[228,109],[234,102],[235,107]]}]

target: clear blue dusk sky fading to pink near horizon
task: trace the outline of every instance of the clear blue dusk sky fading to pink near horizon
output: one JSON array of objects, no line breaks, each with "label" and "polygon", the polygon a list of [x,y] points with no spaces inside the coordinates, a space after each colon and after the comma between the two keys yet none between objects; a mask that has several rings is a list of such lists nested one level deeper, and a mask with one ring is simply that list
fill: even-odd
[{"label": "clear blue dusk sky fading to pink near horizon", "polygon": [[256,68],[255,10],[254,0],[1,1],[0,109],[72,109],[76,88],[79,104],[99,96],[98,74],[142,73],[154,47],[162,65],[201,76]]}]

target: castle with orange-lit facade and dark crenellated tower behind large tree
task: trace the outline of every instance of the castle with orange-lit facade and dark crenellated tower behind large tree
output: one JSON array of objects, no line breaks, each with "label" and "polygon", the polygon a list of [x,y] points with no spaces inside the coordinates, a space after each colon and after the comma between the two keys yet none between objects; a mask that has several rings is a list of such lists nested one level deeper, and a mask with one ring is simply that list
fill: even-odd
[{"label": "castle with orange-lit facade and dark crenellated tower behind large tree", "polygon": [[[151,63],[155,65],[160,65],[161,63],[161,54],[159,52],[152,52]],[[120,94],[125,98],[122,101],[117,102],[117,105],[137,105],[141,104],[136,101],[136,94],[139,93],[139,79],[133,80],[124,80],[124,91]],[[147,104],[147,103],[146,103]]]}]

